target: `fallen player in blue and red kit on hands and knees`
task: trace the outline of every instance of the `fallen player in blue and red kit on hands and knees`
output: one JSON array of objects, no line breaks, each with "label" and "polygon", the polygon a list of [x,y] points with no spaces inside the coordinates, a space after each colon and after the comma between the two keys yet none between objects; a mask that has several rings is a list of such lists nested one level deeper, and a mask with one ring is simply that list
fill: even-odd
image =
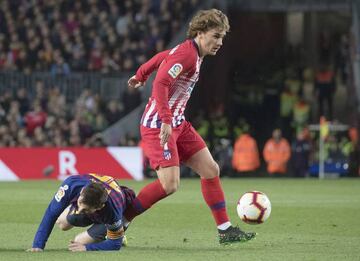
[{"label": "fallen player in blue and red kit on hands and knees", "polygon": [[123,212],[134,197],[133,190],[110,176],[68,177],[50,202],[28,251],[44,250],[55,223],[64,231],[92,225],[71,241],[70,251],[119,250],[124,236]]}]

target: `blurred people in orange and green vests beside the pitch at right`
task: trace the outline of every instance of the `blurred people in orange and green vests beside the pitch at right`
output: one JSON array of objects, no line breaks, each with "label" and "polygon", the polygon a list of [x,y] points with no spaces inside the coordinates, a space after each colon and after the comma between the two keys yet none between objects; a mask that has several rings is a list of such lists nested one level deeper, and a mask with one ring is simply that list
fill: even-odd
[{"label": "blurred people in orange and green vests beside the pitch at right", "polygon": [[[256,130],[243,118],[231,126],[221,110],[210,118],[194,121],[199,134],[207,141],[224,175],[263,175],[307,177],[319,172],[319,131],[308,126],[296,130],[292,139],[281,128],[272,130],[262,142]],[[336,124],[333,122],[333,124]],[[324,137],[325,172],[360,176],[360,142],[358,130],[349,127],[328,132]],[[194,175],[194,173],[187,173]]]}]

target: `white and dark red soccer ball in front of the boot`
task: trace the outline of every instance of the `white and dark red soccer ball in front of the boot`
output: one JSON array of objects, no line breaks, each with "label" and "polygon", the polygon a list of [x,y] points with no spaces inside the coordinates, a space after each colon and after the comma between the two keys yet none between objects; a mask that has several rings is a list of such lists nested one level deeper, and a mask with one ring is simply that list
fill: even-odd
[{"label": "white and dark red soccer ball in front of the boot", "polygon": [[263,223],[271,213],[269,198],[260,191],[250,191],[242,195],[237,204],[237,213],[242,221],[256,225]]}]

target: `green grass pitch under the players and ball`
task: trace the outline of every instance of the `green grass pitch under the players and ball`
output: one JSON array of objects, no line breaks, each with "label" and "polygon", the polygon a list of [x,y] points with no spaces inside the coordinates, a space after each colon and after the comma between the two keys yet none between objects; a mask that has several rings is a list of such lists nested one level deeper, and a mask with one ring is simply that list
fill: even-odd
[{"label": "green grass pitch under the players and ball", "polygon": [[[120,182],[139,191],[148,181]],[[254,241],[220,246],[198,179],[139,216],[119,252],[71,253],[80,229],[57,227],[42,253],[28,253],[57,181],[0,183],[0,260],[360,260],[360,179],[222,179],[232,223],[258,232]],[[265,192],[266,223],[250,226],[236,215],[239,196]]]}]

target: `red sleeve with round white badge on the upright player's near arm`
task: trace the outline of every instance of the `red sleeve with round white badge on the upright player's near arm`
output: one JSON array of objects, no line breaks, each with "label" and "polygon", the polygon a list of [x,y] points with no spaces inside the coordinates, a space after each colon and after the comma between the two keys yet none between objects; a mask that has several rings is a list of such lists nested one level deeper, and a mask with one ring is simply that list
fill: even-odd
[{"label": "red sleeve with round white badge on the upright player's near arm", "polygon": [[169,55],[158,69],[153,83],[152,95],[156,102],[159,117],[163,123],[171,124],[172,113],[169,108],[169,89],[181,75],[193,73],[196,58],[191,50],[183,50]]}]

